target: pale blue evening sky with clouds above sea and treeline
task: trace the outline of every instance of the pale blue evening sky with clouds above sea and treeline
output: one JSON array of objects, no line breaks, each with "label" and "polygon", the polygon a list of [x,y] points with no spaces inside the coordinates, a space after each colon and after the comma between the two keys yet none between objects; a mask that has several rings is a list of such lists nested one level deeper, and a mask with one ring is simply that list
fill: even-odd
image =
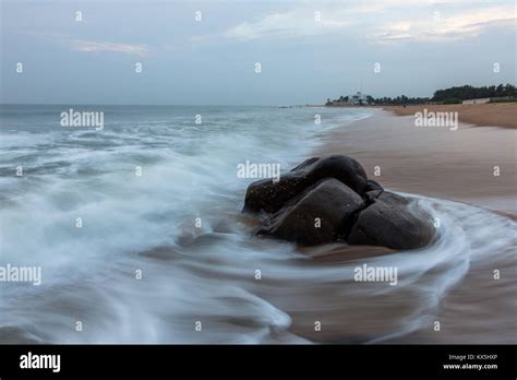
[{"label": "pale blue evening sky with clouds above sea and treeline", "polygon": [[0,7],[0,103],[277,106],[516,84],[513,0]]}]

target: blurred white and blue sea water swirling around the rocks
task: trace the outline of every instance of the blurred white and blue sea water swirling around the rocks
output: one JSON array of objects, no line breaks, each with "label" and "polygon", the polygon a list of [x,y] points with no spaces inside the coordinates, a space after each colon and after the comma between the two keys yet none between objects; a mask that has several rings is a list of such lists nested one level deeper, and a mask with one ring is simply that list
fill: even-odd
[{"label": "blurred white and blue sea water swirling around the rocks", "polygon": [[[314,321],[382,342],[429,323],[473,261],[515,263],[515,222],[417,195],[441,221],[422,250],[317,264],[251,235],[237,165],[287,170],[371,109],[1,107],[0,263],[43,271],[0,283],[2,342],[309,343]],[[104,111],[104,129],[60,127],[71,107]],[[397,286],[354,282],[363,263],[396,266]]]}]

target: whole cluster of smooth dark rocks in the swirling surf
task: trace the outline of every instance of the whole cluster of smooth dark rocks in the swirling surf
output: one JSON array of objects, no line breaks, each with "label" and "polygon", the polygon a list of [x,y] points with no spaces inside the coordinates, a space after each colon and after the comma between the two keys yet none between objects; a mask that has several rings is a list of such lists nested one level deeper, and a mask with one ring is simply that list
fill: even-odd
[{"label": "whole cluster of smooth dark rocks in the swirling surf", "polygon": [[306,159],[278,181],[250,185],[245,212],[263,212],[260,236],[314,246],[350,245],[417,249],[433,238],[431,216],[401,195],[369,180],[342,155]]}]

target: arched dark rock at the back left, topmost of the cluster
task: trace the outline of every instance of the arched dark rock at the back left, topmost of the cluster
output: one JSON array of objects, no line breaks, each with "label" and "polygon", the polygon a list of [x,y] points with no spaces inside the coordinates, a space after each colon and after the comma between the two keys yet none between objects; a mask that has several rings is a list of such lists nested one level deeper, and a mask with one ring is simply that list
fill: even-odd
[{"label": "arched dark rock at the back left, topmost of the cluster", "polygon": [[323,178],[335,178],[362,195],[366,188],[366,173],[356,159],[334,155],[312,157],[280,176],[278,182],[263,179],[248,188],[244,211],[274,213],[286,202]]}]

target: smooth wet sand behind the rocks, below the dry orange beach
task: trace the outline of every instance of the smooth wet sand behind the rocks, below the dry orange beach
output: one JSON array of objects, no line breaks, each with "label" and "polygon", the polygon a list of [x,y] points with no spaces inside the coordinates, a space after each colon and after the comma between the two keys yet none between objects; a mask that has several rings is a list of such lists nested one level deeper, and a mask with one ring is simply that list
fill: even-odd
[{"label": "smooth wet sand behind the rocks, below the dry orange beach", "polygon": [[392,190],[516,213],[516,139],[508,128],[416,127],[412,116],[378,110],[336,130],[317,154],[352,156]]}]

